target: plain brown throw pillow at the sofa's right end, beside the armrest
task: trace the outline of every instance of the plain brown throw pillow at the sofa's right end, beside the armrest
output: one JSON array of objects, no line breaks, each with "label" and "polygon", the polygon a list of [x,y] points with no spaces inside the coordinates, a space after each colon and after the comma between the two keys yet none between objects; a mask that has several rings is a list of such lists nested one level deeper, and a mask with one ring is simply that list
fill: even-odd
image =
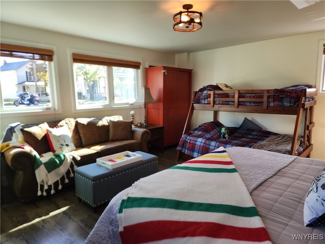
[{"label": "plain brown throw pillow at the sofa's right end, beside the armrest", "polygon": [[133,121],[110,120],[110,141],[132,140]]}]

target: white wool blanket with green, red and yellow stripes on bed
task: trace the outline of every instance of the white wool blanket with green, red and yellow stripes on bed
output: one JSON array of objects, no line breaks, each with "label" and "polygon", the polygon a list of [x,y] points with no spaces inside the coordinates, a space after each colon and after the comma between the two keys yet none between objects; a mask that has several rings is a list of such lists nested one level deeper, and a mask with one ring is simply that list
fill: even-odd
[{"label": "white wool blanket with green, red and yellow stripes on bed", "polygon": [[117,218],[122,243],[271,243],[223,147],[138,180]]}]

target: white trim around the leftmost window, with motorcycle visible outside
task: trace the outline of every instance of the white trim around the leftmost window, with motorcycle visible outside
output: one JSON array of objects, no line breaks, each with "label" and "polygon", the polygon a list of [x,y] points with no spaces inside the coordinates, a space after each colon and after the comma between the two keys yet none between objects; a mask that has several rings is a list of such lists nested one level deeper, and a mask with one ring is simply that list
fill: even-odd
[{"label": "white trim around the leftmost window, with motorcycle visible outside", "polygon": [[[30,43],[30,42],[21,42],[21,41],[16,41],[16,40],[11,40],[11,39],[2,39],[1,40],[3,43],[8,43],[12,45],[20,45],[20,46],[27,46],[27,47],[35,47],[35,48],[46,48],[46,49],[51,49],[54,51],[53,55],[53,61],[49,62],[49,65],[51,66],[51,69],[49,72],[49,77],[53,80],[53,84],[51,87],[51,101],[52,101],[52,106],[51,107],[42,107],[42,108],[37,108],[35,109],[12,109],[12,110],[4,110],[3,108],[3,98],[2,98],[2,91],[0,90],[0,114],[1,116],[4,117],[15,117],[17,114],[17,117],[21,117],[22,114],[28,114],[28,116],[33,116],[33,115],[48,115],[48,114],[57,114],[61,113],[61,107],[60,107],[60,96],[58,93],[59,90],[59,81],[58,81],[58,73],[57,73],[57,59],[56,59],[56,47],[51,46],[51,45],[44,45],[41,43]],[[1,87],[0,87],[1,88]],[[7,116],[8,115],[8,116]]]}]

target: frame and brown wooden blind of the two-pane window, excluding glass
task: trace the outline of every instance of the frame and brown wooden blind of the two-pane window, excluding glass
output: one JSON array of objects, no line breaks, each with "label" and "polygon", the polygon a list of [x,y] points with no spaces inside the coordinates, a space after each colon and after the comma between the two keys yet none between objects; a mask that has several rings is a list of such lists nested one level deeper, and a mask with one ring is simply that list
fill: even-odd
[{"label": "frame and brown wooden blind of the two-pane window, excluding glass", "polygon": [[[132,103],[114,103],[114,82],[113,82],[113,69],[112,67],[122,67],[122,68],[133,68],[136,70],[136,87],[135,93],[136,96],[139,94],[139,89],[141,87],[141,66],[142,62],[139,60],[132,60],[131,58],[116,58],[109,57],[103,54],[87,53],[81,52],[79,50],[70,50],[71,53],[71,67],[72,67],[72,81],[73,81],[73,99],[74,99],[74,110],[75,112],[88,111],[88,110],[103,110],[103,109],[118,109],[123,107],[133,107],[135,106]],[[75,82],[75,71],[74,64],[89,64],[89,65],[101,65],[105,66],[106,71],[106,85],[108,89],[108,104],[100,104],[98,106],[83,106],[78,107],[77,105],[77,93],[76,93],[76,82]],[[110,80],[111,79],[111,80]],[[138,107],[138,106],[137,106]]]}]

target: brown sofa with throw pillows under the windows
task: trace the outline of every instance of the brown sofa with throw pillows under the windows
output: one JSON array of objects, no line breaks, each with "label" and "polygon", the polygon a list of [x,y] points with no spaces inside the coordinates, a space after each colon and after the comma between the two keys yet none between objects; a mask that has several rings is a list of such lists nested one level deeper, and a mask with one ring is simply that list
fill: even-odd
[{"label": "brown sofa with throw pillows under the windows", "polygon": [[[65,175],[51,187],[44,188],[46,184],[39,184],[36,178],[35,154],[24,148],[6,149],[2,153],[2,159],[6,161],[8,185],[12,186],[22,203],[30,202],[40,195],[40,191],[43,192],[42,195],[50,195],[62,187],[74,184],[74,168],[94,163],[96,158],[125,150],[148,152],[150,131],[133,127],[132,124],[132,121],[123,120],[121,116],[116,115],[103,118],[65,118],[41,124],[21,125],[23,143],[31,146],[39,156],[42,157],[51,151],[62,151],[73,153],[75,157],[72,158],[73,162],[68,166],[70,168]],[[55,133],[63,129],[69,129],[68,138],[64,135],[62,139],[64,133]],[[64,143],[55,144],[53,136],[60,138]]]}]

